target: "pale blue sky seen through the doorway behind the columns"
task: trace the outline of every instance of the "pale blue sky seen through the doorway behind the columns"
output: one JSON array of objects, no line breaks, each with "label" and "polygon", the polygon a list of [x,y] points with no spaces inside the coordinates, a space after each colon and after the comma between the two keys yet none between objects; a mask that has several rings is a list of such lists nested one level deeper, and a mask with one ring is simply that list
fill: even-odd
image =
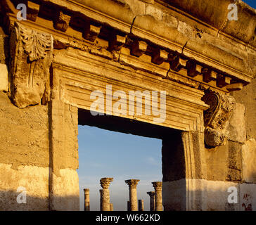
[{"label": "pale blue sky seen through the doorway behind the columns", "polygon": [[[256,8],[256,0],[245,3]],[[84,210],[83,188],[90,189],[91,210],[99,210],[99,181],[106,176],[114,178],[110,184],[114,210],[127,210],[126,179],[141,180],[138,199],[143,199],[145,210],[149,210],[146,192],[153,191],[152,181],[162,181],[162,141],[89,126],[79,126],[78,131],[80,210]]]}]

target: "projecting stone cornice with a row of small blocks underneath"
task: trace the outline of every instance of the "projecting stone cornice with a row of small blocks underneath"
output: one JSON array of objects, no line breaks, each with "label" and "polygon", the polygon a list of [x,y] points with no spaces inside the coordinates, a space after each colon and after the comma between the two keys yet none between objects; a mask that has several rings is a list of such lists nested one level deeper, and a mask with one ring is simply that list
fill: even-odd
[{"label": "projecting stone cornice with a row of small blocks underneath", "polygon": [[[11,11],[9,6],[11,5],[10,0],[5,1],[8,2],[8,8]],[[105,0],[105,3],[113,6],[110,9],[110,7],[101,7],[101,0],[83,1],[84,4],[72,0],[41,2],[45,3],[40,7],[41,11],[39,11],[41,12],[39,15],[42,18],[38,18],[36,22],[32,20],[23,21],[23,24],[44,32],[47,30],[48,33],[53,34],[54,46],[57,49],[69,46],[70,40],[85,46],[91,45],[91,42],[97,42],[95,41],[97,37],[100,39],[108,37],[108,32],[105,32],[109,30],[113,36],[106,39],[108,47],[105,49],[110,52],[110,55],[116,55],[117,58],[120,56],[119,60],[122,60],[122,47],[124,46],[130,49],[131,56],[140,56],[140,61],[141,55],[151,56],[152,67],[157,65],[162,67],[164,64],[167,64],[167,67],[164,66],[165,69],[163,71],[166,70],[165,77],[168,79],[172,79],[173,72],[181,73],[182,70],[186,70],[186,79],[202,81],[201,83],[205,84],[205,86],[213,84],[214,87],[222,89],[222,91],[241,89],[243,85],[250,83],[252,80],[252,75],[245,71],[246,65],[243,58],[239,58],[240,56],[222,51],[222,49],[218,49],[211,44],[203,43],[202,46],[202,43],[188,40],[176,28],[167,27],[164,23],[155,20],[151,16],[134,16],[127,5],[124,6],[110,0]],[[53,16],[51,10],[47,12],[47,7],[51,8],[50,6],[55,7],[56,15]],[[15,21],[15,13],[6,14],[11,26]],[[47,13],[47,20],[52,20],[53,25],[51,23],[44,23]],[[61,21],[63,22],[60,21],[60,15],[62,15],[61,18],[63,20]],[[34,17],[32,16],[32,18]],[[67,20],[64,22],[65,18]],[[84,25],[82,25],[82,21],[84,21]],[[81,32],[82,27],[76,29],[76,25],[82,25],[84,31]],[[105,27],[105,25],[110,27]],[[138,50],[139,41],[143,41],[141,43],[144,45],[141,45],[140,48],[142,49]],[[93,45],[97,44],[93,43]],[[99,47],[104,49],[102,46]],[[209,48],[209,51],[204,51],[205,53],[202,54],[200,51],[205,48]],[[120,50],[121,55],[118,53]],[[222,58],[222,63],[220,63],[221,60],[219,58]],[[127,60],[123,61],[127,63]],[[139,64],[141,65],[141,63]],[[241,70],[237,68],[241,68]],[[143,68],[138,69],[143,70]]]}]

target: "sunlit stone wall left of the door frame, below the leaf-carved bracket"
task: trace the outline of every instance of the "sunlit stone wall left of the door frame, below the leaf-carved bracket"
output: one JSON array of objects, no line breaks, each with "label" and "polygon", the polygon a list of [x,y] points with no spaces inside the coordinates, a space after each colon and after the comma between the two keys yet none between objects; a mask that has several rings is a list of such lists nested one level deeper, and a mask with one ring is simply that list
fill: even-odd
[{"label": "sunlit stone wall left of the door frame, below the leaf-carved bracket", "polygon": [[[48,107],[19,109],[0,91],[0,210],[48,210]],[[18,204],[17,188],[27,190]]]}]

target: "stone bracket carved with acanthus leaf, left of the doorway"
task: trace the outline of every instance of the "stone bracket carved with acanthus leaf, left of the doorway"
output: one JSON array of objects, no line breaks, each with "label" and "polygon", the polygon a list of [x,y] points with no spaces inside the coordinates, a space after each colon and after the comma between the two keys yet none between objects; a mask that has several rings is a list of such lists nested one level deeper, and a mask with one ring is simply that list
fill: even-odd
[{"label": "stone bracket carved with acanthus leaf, left of the doorway", "polygon": [[51,34],[15,23],[11,32],[11,98],[19,108],[50,98],[49,68],[53,54]]}]

